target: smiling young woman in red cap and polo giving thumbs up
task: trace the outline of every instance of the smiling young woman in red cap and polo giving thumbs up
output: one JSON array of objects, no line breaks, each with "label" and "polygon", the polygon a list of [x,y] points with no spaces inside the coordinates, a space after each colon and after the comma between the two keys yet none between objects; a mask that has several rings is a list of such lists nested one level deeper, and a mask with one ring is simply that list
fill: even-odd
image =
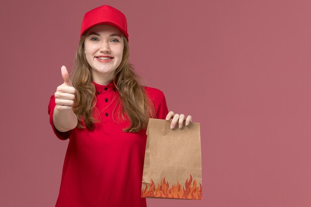
[{"label": "smiling young woman in red cap and polo giving thumbs up", "polygon": [[88,11],[82,21],[72,81],[48,106],[55,135],[69,138],[56,207],[146,207],[141,183],[149,118],[191,116],[168,112],[164,94],[141,86],[129,64],[125,15],[108,5]]}]

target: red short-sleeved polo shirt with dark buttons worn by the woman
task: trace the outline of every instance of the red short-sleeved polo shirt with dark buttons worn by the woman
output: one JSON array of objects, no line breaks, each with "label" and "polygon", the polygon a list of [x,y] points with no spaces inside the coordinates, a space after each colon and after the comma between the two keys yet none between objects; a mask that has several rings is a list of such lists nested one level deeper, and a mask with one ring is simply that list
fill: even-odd
[{"label": "red short-sleeved polo shirt with dark buttons worn by the woman", "polygon": [[[113,82],[93,84],[99,93],[96,107],[102,119],[93,131],[77,127],[66,133],[56,130],[54,95],[50,99],[53,131],[62,140],[69,138],[56,207],[146,207],[146,199],[141,198],[146,130],[124,133],[122,129],[129,123],[115,123],[111,116],[118,95]],[[163,92],[151,87],[146,90],[154,102],[156,118],[165,119],[168,110]]]}]

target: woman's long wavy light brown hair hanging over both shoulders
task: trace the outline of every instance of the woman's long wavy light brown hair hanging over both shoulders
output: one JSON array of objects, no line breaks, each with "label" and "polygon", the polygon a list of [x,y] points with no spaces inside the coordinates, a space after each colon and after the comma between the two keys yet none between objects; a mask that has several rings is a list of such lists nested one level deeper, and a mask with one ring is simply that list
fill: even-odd
[{"label": "woman's long wavy light brown hair hanging over both shoulders", "polygon": [[[96,117],[100,116],[94,116],[96,114],[99,115],[99,112],[95,107],[95,86],[91,83],[91,68],[84,55],[85,38],[85,35],[82,35],[80,38],[76,52],[75,67],[72,72],[72,83],[76,88],[73,111],[78,118],[77,127],[83,129],[86,127],[88,130],[92,130],[94,123],[99,122]],[[115,70],[113,78],[114,84],[119,92],[115,109],[120,109],[117,112],[124,121],[126,119],[130,121],[130,126],[123,129],[123,131],[135,133],[147,128],[149,118],[155,117],[155,111],[145,87],[140,84],[139,76],[129,63],[129,45],[124,36],[123,42],[122,61],[120,66]],[[82,120],[84,121],[85,127],[81,124]]]}]

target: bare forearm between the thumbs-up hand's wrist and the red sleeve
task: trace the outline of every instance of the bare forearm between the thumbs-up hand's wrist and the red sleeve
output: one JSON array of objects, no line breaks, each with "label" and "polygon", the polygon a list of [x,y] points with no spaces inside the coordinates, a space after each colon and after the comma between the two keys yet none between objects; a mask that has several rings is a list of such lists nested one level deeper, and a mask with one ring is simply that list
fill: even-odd
[{"label": "bare forearm between the thumbs-up hand's wrist and the red sleeve", "polygon": [[59,111],[55,107],[53,113],[53,123],[58,131],[67,132],[77,127],[78,119],[73,110]]}]

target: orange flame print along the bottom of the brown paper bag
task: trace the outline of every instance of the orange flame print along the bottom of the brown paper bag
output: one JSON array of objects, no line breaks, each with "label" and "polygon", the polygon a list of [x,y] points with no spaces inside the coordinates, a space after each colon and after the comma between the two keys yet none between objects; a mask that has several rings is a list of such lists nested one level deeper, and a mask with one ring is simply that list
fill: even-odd
[{"label": "orange flame print along the bottom of the brown paper bag", "polygon": [[176,185],[172,185],[169,188],[169,184],[165,181],[165,177],[161,179],[161,184],[157,184],[157,188],[153,180],[150,181],[150,187],[148,188],[147,184],[145,189],[142,189],[142,198],[146,197],[156,197],[156,198],[169,198],[169,199],[195,199],[202,200],[202,184],[197,187],[197,181],[193,181],[190,174],[190,179],[185,182],[185,188],[179,184],[177,181]]}]

